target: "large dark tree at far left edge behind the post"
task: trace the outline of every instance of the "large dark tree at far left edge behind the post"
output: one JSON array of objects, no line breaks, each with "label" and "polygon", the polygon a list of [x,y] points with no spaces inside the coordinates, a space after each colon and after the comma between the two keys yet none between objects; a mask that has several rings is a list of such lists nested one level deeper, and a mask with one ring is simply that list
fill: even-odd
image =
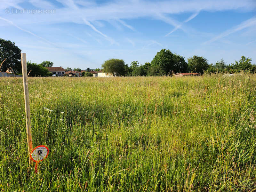
[{"label": "large dark tree at far left edge behind the post", "polygon": [[21,73],[21,50],[11,41],[0,38],[0,62],[6,59],[0,70],[12,68],[15,73]]}]

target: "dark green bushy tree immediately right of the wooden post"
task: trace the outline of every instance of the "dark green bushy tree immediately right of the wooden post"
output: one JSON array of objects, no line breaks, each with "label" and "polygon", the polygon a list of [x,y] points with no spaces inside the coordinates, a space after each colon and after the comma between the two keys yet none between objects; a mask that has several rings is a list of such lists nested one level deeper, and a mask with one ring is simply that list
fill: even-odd
[{"label": "dark green bushy tree immediately right of the wooden post", "polygon": [[52,76],[52,73],[47,68],[36,63],[31,63],[31,61],[27,62],[27,70],[29,76]]}]

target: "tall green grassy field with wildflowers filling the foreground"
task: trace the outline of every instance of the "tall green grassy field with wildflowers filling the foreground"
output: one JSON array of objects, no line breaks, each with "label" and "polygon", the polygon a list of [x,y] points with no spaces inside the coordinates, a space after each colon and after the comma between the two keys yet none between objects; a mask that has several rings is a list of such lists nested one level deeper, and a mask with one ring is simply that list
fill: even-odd
[{"label": "tall green grassy field with wildflowers filling the foreground", "polygon": [[[0,79],[2,191],[256,191],[256,75]],[[47,108],[47,109],[46,109]]]}]

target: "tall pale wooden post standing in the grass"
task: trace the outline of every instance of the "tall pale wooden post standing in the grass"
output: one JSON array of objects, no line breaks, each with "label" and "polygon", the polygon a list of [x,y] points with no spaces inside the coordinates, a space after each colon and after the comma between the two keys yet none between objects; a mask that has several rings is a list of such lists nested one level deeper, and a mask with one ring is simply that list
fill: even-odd
[{"label": "tall pale wooden post standing in the grass", "polygon": [[26,53],[21,53],[21,66],[22,66],[23,89],[24,89],[25,112],[26,112],[28,159],[29,159],[29,164],[31,165],[32,161],[30,159],[30,152],[33,149],[33,145],[32,145],[32,135],[31,135],[29,96],[28,96],[28,78],[27,78],[28,75],[27,75]]}]

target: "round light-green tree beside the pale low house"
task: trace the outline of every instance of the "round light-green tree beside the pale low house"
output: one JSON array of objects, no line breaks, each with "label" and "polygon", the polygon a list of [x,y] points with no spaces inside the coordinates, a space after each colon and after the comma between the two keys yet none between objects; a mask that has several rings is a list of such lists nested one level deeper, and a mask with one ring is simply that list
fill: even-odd
[{"label": "round light-green tree beside the pale low house", "polygon": [[126,72],[124,60],[122,59],[109,59],[102,64],[103,71],[111,72],[113,76],[124,76]]}]

